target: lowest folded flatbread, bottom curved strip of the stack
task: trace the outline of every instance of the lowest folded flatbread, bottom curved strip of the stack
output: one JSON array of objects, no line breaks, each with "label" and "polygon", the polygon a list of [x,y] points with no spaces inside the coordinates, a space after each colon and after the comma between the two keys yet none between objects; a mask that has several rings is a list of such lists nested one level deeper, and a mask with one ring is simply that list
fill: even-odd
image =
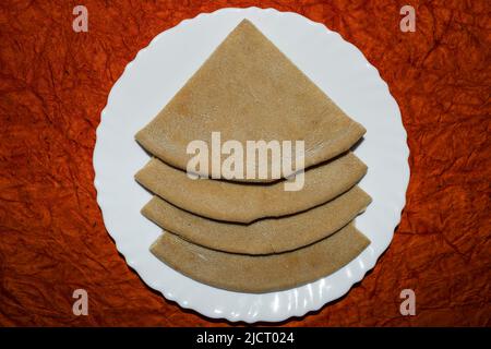
[{"label": "lowest folded flatbread, bottom curved strip of the stack", "polygon": [[209,250],[165,232],[152,253],[177,272],[213,287],[237,292],[280,291],[327,276],[370,241],[349,224],[333,236],[291,252],[251,256]]}]

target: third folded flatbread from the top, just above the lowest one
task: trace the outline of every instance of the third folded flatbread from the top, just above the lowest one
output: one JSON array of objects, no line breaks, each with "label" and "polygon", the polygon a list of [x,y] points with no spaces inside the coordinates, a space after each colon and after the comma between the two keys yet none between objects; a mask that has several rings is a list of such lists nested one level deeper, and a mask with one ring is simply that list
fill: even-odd
[{"label": "third folded flatbread from the top, just above the lowest one", "polygon": [[338,197],[303,213],[256,220],[250,225],[207,219],[154,196],[142,214],[164,230],[208,249],[271,254],[296,250],[336,232],[370,204],[370,196],[355,185]]}]

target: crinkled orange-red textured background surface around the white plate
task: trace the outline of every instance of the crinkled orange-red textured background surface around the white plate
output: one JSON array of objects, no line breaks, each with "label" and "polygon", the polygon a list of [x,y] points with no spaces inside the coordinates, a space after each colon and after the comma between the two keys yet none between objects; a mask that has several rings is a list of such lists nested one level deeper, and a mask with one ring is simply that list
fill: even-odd
[{"label": "crinkled orange-red textured background surface around the white plate", "polygon": [[[88,33],[72,31],[75,4]],[[399,9],[417,12],[402,33]],[[208,326],[125,264],[93,185],[95,130],[125,64],[201,12],[261,4],[324,23],[388,83],[411,151],[407,206],[374,270],[288,326],[480,325],[491,321],[489,1],[1,1],[0,324]],[[72,314],[84,288],[89,315]],[[411,288],[417,315],[399,314]]]}]

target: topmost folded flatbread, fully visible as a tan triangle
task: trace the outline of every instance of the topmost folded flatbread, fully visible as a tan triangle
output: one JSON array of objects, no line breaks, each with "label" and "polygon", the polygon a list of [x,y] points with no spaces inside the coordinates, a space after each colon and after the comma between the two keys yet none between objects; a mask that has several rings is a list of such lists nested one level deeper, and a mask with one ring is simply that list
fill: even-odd
[{"label": "topmost folded flatbread, fully visible as a tan triangle", "polygon": [[[192,156],[187,154],[188,144],[202,140],[211,149],[214,131],[220,132],[221,142],[237,140],[244,149],[246,141],[302,140],[306,168],[349,149],[366,132],[247,20],[136,134],[136,141],[185,170]],[[208,164],[212,174],[211,156]],[[197,174],[207,173],[200,169]],[[266,179],[247,181],[271,180],[270,171]]]}]

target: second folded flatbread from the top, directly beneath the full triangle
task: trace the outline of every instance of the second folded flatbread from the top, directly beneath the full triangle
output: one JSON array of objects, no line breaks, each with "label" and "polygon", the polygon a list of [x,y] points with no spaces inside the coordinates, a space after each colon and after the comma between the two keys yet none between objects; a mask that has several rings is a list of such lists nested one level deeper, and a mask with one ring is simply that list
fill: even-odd
[{"label": "second folded flatbread from the top, directly beneath the full triangle", "polygon": [[151,192],[196,215],[226,221],[251,222],[280,217],[321,205],[354,186],[367,166],[352,153],[313,167],[299,191],[285,191],[284,181],[249,184],[190,179],[181,170],[153,158],[135,179]]}]

